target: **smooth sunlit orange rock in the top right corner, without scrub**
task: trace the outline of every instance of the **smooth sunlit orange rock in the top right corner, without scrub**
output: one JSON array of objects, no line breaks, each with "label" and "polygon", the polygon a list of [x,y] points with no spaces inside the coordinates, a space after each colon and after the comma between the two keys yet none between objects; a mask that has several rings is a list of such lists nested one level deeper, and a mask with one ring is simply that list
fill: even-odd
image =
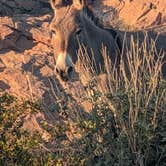
[{"label": "smooth sunlit orange rock in the top right corner, without scrub", "polygon": [[132,28],[148,28],[166,23],[165,0],[103,0],[116,9],[118,19]]}]

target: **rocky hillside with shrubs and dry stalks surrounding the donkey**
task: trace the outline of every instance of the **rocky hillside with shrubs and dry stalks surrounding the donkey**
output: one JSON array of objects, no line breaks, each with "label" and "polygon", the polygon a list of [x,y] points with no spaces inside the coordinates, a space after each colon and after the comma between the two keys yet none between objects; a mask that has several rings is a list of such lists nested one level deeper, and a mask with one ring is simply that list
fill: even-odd
[{"label": "rocky hillside with shrubs and dry stalks surrounding the donkey", "polygon": [[166,82],[153,55],[166,51],[166,0],[94,0],[90,7],[131,43],[130,80],[121,66],[118,78],[111,68],[113,77],[82,71],[61,81],[48,0],[0,0],[0,165],[165,166]]}]

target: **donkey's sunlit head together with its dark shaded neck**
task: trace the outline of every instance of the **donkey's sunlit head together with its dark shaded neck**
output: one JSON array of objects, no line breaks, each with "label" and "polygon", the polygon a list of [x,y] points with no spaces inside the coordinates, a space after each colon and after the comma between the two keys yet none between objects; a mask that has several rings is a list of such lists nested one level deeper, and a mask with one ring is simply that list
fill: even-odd
[{"label": "donkey's sunlit head together with its dark shaded neck", "polygon": [[[102,48],[117,67],[120,63],[121,42],[117,32],[103,28],[89,8],[93,0],[50,0],[54,18],[50,24],[56,61],[55,70],[63,80],[68,80],[78,60],[78,50],[84,46],[94,60],[97,73],[104,64]],[[93,55],[92,55],[93,54]]]}]

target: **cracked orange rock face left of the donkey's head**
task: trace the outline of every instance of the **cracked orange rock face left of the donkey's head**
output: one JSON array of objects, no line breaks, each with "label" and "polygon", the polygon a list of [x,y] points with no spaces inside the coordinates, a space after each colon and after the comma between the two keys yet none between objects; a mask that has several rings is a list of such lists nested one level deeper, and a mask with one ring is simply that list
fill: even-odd
[{"label": "cracked orange rock face left of the donkey's head", "polygon": [[52,57],[51,13],[45,0],[0,1],[0,90],[24,99],[44,95],[52,73],[45,66]]}]

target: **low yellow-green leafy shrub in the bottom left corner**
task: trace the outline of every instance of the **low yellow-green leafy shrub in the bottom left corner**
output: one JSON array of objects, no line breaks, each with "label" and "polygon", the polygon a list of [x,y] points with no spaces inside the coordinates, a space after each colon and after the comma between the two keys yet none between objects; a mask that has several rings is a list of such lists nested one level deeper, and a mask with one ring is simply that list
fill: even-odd
[{"label": "low yellow-green leafy shrub in the bottom left corner", "polygon": [[[39,110],[37,102],[19,101],[6,93],[0,95],[0,165],[49,163],[49,154],[39,151],[40,134],[30,135],[22,129],[23,118]],[[34,153],[36,149],[38,154]]]}]

